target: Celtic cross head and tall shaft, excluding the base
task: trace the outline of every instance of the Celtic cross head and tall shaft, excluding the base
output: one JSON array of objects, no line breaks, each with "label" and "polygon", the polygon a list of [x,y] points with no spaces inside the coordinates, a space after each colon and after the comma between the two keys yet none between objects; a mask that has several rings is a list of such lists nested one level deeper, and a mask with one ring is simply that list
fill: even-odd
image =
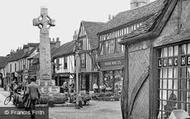
[{"label": "Celtic cross head and tall shaft, excluding the base", "polygon": [[49,29],[55,26],[54,20],[48,16],[47,8],[41,8],[41,14],[33,19],[33,25],[40,29],[40,80],[51,80],[51,51]]}]

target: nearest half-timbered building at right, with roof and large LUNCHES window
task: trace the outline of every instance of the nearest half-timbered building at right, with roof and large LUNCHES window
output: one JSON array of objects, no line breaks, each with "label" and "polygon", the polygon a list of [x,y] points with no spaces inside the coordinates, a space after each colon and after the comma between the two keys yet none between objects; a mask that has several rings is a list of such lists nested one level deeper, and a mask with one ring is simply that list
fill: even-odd
[{"label": "nearest half-timbered building at right, with roof and large LUNCHES window", "polygon": [[123,117],[166,119],[176,109],[190,114],[190,1],[157,0],[148,6],[137,8],[134,14],[147,19],[121,41]]}]

